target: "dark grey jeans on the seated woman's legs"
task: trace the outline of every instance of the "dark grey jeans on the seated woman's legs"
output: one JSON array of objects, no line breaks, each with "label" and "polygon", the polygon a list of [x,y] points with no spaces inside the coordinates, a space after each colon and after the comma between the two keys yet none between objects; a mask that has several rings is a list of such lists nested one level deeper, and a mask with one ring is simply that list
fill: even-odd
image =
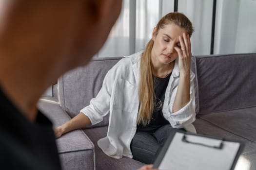
[{"label": "dark grey jeans on the seated woman's legs", "polygon": [[172,130],[175,129],[170,124],[167,124],[160,127],[153,134],[137,132],[130,145],[133,159],[145,164],[152,164]]}]

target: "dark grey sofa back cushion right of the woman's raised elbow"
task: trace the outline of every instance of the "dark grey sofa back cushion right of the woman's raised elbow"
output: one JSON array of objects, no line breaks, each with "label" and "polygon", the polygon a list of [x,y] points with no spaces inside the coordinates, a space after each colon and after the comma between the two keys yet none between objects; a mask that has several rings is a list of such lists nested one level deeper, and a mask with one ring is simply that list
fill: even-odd
[{"label": "dark grey sofa back cushion right of the woman's raised elbow", "polygon": [[256,106],[256,53],[195,56],[198,114]]}]

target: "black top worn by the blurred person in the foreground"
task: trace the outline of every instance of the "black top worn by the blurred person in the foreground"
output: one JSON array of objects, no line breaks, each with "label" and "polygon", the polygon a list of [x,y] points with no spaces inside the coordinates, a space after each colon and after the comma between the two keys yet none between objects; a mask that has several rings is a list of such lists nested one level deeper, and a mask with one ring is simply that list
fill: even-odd
[{"label": "black top worn by the blurred person in the foreground", "polygon": [[0,169],[60,170],[52,123],[39,111],[31,123],[0,88]]}]

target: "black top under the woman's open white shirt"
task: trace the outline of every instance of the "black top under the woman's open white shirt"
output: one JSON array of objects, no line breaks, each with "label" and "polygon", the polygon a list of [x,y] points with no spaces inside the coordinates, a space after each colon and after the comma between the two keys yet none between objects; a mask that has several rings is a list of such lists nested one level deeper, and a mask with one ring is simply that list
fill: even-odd
[{"label": "black top under the woman's open white shirt", "polygon": [[152,118],[149,124],[147,124],[146,126],[143,126],[142,124],[137,125],[137,132],[143,131],[148,133],[154,133],[159,127],[169,124],[169,121],[163,117],[162,108],[165,91],[169,83],[171,74],[172,73],[170,73],[165,78],[159,78],[154,76],[154,90],[156,95],[154,100],[154,112],[152,114]]}]

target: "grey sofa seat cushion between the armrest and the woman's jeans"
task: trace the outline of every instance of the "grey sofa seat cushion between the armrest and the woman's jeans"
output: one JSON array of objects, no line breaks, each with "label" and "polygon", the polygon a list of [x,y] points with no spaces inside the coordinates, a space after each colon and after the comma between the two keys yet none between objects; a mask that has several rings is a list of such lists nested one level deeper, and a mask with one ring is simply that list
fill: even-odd
[{"label": "grey sofa seat cushion between the armrest and the woman's jeans", "polygon": [[[98,147],[98,139],[107,135],[107,126],[84,129],[84,133],[95,143],[96,170],[137,170],[142,167],[142,162],[123,156],[121,159],[109,157]],[[104,161],[100,161],[104,160]]]}]

